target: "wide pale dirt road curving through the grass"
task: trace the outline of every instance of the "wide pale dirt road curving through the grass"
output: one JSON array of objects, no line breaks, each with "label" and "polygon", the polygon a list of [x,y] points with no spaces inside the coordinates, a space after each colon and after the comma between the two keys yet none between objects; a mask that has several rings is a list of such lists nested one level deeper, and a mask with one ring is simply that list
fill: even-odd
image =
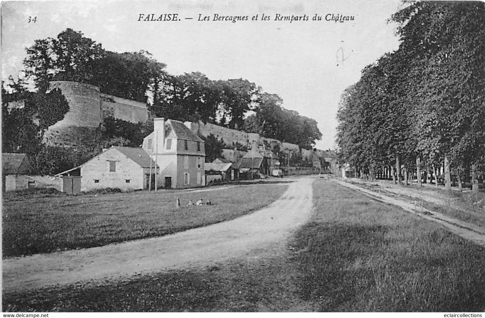
[{"label": "wide pale dirt road curving through the grass", "polygon": [[296,179],[271,205],[236,220],[161,238],[5,259],[2,261],[3,291],[78,282],[96,284],[141,273],[206,266],[233,257],[264,254],[275,246],[284,246],[291,232],[307,221],[312,208],[313,180],[311,177]]}]

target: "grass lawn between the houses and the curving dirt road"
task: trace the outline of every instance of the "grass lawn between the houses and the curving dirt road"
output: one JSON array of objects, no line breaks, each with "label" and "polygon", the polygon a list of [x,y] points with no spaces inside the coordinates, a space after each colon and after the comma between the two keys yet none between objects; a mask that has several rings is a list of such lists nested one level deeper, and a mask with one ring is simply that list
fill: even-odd
[{"label": "grass lawn between the houses and the curving dirt road", "polygon": [[[167,235],[231,220],[267,206],[284,184],[202,192],[132,192],[4,200],[2,255],[47,253]],[[176,199],[180,208],[176,208]],[[187,206],[202,198],[212,206]]]}]

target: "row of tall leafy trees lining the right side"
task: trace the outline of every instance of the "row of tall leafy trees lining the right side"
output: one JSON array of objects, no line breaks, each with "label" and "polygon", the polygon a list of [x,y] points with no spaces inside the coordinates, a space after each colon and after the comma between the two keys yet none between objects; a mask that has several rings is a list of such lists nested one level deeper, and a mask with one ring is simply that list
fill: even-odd
[{"label": "row of tall leafy trees lining the right side", "polygon": [[337,143],[360,175],[402,182],[422,172],[449,189],[485,172],[485,5],[420,1],[391,17],[399,49],[342,94]]}]

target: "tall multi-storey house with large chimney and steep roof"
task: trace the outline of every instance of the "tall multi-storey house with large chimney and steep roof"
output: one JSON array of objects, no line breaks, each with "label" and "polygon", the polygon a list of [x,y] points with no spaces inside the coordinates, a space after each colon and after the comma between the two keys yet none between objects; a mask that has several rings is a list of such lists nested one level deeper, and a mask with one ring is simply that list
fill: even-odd
[{"label": "tall multi-storey house with large chimney and steep roof", "polygon": [[184,123],[155,118],[153,132],[143,139],[143,149],[160,166],[157,186],[205,186],[205,143]]}]

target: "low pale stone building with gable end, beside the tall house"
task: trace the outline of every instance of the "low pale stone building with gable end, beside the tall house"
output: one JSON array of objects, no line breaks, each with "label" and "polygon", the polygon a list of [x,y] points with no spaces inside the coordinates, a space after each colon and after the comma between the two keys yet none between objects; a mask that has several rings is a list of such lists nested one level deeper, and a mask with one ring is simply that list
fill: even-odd
[{"label": "low pale stone building with gable end, beside the tall house", "polygon": [[[67,170],[57,176],[81,176],[81,191],[104,188],[141,190],[155,187],[159,169],[150,156],[141,148],[117,147],[106,149],[79,167]],[[151,176],[150,176],[151,175]],[[77,182],[74,180],[74,182]],[[72,185],[75,189],[77,185]],[[66,186],[65,186],[66,188]],[[72,191],[76,193],[77,191]]]}]

